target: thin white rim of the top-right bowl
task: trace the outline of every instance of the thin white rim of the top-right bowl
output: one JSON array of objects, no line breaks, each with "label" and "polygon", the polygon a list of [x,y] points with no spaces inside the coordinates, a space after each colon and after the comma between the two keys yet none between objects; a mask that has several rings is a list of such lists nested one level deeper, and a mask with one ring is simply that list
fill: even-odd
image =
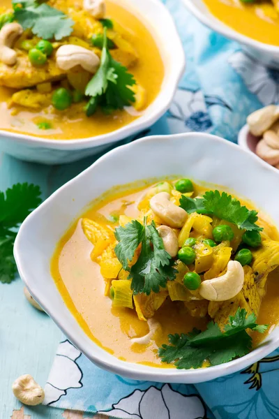
[{"label": "thin white rim of the top-right bowl", "polygon": [[193,15],[197,17],[197,19],[200,20],[200,22],[205,24],[206,27],[209,27],[209,29],[212,29],[213,31],[217,31],[223,36],[225,36],[226,38],[231,38],[234,41],[248,45],[249,47],[252,47],[256,50],[261,50],[262,52],[269,52],[270,54],[279,53],[279,46],[256,41],[255,39],[250,38],[249,36],[240,34],[235,29],[227,26],[227,24],[218,20],[218,18],[212,15],[212,13],[209,11],[212,17],[215,17],[215,20],[211,20],[209,17],[204,15],[204,13],[202,13],[201,10],[199,10],[197,5],[195,4],[195,0],[182,0],[182,1],[184,5],[186,6],[186,8],[188,8],[188,10],[191,13],[193,13]]}]

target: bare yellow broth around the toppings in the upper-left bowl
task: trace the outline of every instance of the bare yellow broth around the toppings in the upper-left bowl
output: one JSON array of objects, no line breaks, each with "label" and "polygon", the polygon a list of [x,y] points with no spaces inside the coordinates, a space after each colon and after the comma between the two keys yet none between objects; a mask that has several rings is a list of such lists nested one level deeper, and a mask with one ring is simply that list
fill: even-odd
[{"label": "bare yellow broth around the toppings in the upper-left bowl", "polygon": [[[0,3],[1,7],[11,7],[11,0],[1,0]],[[75,3],[82,4],[82,0],[75,0]],[[158,96],[165,73],[156,41],[144,26],[144,22],[137,19],[133,13],[125,10],[113,0],[107,0],[106,3],[107,17],[112,17],[121,24],[126,30],[127,40],[132,43],[139,55],[137,64],[128,71],[133,73],[137,82],[146,89],[147,108]],[[83,111],[77,114],[75,107],[63,112],[45,113],[45,110],[32,112],[18,106],[20,112],[13,115],[7,106],[7,101],[13,93],[15,93],[13,89],[0,87],[0,129],[5,131],[53,140],[73,140],[110,133],[137,119],[126,110],[117,110],[113,115],[104,115],[98,110],[93,117],[86,117]],[[52,124],[51,129],[39,129],[36,125],[45,121]]]}]

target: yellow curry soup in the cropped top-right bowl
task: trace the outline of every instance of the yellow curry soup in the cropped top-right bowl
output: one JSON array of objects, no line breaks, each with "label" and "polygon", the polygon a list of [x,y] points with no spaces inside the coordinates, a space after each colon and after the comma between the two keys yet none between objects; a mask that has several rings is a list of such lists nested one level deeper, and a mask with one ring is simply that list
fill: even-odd
[{"label": "yellow curry soup in the cropped top-right bowl", "polygon": [[240,34],[279,45],[278,0],[203,0],[210,12]]}]

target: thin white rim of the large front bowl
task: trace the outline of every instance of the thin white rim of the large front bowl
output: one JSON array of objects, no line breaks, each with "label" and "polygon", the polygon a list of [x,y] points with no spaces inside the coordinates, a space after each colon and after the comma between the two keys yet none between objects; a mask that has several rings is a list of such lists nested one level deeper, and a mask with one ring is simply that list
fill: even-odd
[{"label": "thin white rim of the large front bowl", "polygon": [[[270,170],[274,171],[274,173],[276,173],[276,176],[278,176],[278,179],[279,179],[278,170],[276,170],[275,168],[273,168],[272,166],[270,166],[266,162],[262,161],[257,156],[252,155],[247,150],[243,150],[238,145],[236,145],[232,142],[229,142],[227,140],[223,140],[223,138],[220,138],[216,135],[211,135],[211,134],[208,134],[208,133],[180,133],[180,134],[176,134],[176,135],[151,135],[149,137],[145,137],[145,138],[141,138],[140,140],[136,140],[135,142],[131,142],[131,143],[128,143],[126,145],[122,145],[121,147],[117,147],[116,149],[112,149],[110,152],[108,152],[104,156],[100,157],[100,159],[98,159],[95,163],[93,163],[93,165],[91,165],[89,168],[84,170],[84,172],[80,173],[80,175],[77,175],[77,177],[74,177],[69,182],[67,182],[66,184],[61,186],[61,188],[59,188],[57,191],[55,191],[52,194],[52,196],[47,198],[47,200],[45,200],[40,205],[40,207],[38,207],[36,210],[34,210],[27,217],[27,219],[24,221],[24,223],[22,223],[22,226],[20,227],[20,231],[17,234],[16,240],[15,240],[15,246],[14,246],[15,260],[16,260],[16,263],[17,263],[17,268],[18,268],[20,277],[24,281],[24,283],[27,286],[27,288],[29,289],[30,293],[36,299],[38,304],[40,304],[43,307],[43,309],[45,309],[47,314],[50,315],[50,317],[52,318],[54,323],[56,323],[56,325],[58,325],[58,327],[68,337],[68,339],[70,339],[70,341],[72,341],[73,344],[75,346],[77,346],[77,348],[79,348],[80,351],[82,351],[82,353],[84,353],[84,355],[86,355],[87,358],[89,358],[89,360],[91,360],[96,365],[98,365],[98,367],[107,369],[110,372],[113,372],[114,374],[119,374],[121,376],[126,376],[128,378],[137,379],[137,380],[149,380],[149,381],[168,382],[168,383],[201,383],[201,382],[205,382],[205,381],[210,381],[210,380],[212,380],[214,378],[218,378],[220,376],[225,376],[227,374],[232,374],[234,372],[239,372],[241,369],[244,369],[244,368],[248,367],[249,365],[253,364],[254,362],[257,362],[257,361],[261,360],[266,355],[269,355],[269,353],[273,352],[279,346],[279,335],[278,335],[278,337],[274,337],[274,338],[271,338],[271,335],[269,335],[269,337],[266,337],[266,340],[262,344],[257,346],[257,348],[253,349],[247,355],[244,355],[241,358],[237,358],[236,360],[232,360],[232,361],[227,362],[227,363],[222,364],[222,365],[209,367],[207,369],[188,369],[188,370],[160,369],[160,368],[156,368],[156,367],[148,367],[147,372],[146,371],[138,371],[138,370],[137,370],[137,372],[135,372],[133,370],[133,367],[135,367],[135,365],[137,365],[137,364],[132,363],[132,362],[126,362],[126,361],[119,360],[118,358],[114,357],[113,355],[110,355],[109,353],[107,353],[103,349],[103,351],[105,352],[105,357],[104,358],[106,358],[104,360],[102,357],[98,356],[98,354],[92,353],[89,350],[89,348],[86,347],[86,344],[80,344],[79,341],[78,341],[78,338],[75,337],[75,332],[72,332],[72,330],[70,330],[69,328],[67,329],[66,325],[61,324],[61,323],[63,323],[63,319],[61,321],[61,319],[59,318],[59,316],[56,313],[56,310],[54,308],[49,309],[49,308],[45,307],[45,303],[40,299],[40,296],[36,295],[36,292],[33,291],[32,284],[29,283],[28,272],[26,272],[26,270],[24,270],[24,267],[23,267],[24,263],[22,263],[22,258],[20,256],[20,253],[21,253],[20,250],[21,250],[21,247],[22,247],[23,242],[24,242],[24,240],[22,240],[22,237],[24,237],[25,235],[28,235],[29,224],[32,221],[32,219],[35,216],[37,217],[37,214],[40,214],[40,212],[45,210],[45,207],[50,205],[52,200],[54,200],[54,198],[56,198],[56,196],[58,196],[59,193],[61,193],[61,191],[65,190],[65,189],[68,189],[68,187],[70,185],[74,184],[75,182],[77,182],[77,183],[80,182],[83,177],[86,177],[87,174],[89,172],[91,172],[91,170],[93,170],[93,167],[95,168],[96,166],[101,165],[103,163],[103,160],[107,159],[107,156],[116,157],[117,154],[119,152],[121,152],[121,150],[123,148],[124,149],[132,148],[133,149],[133,145],[134,144],[139,144],[140,142],[153,142],[154,143],[154,142],[160,142],[160,140],[162,140],[162,139],[173,140],[174,138],[183,138],[183,140],[185,138],[191,138],[191,139],[194,140],[195,138],[199,138],[199,137],[204,137],[204,138],[207,138],[207,139],[209,139],[213,142],[217,142],[217,143],[225,142],[227,144],[228,149],[229,148],[236,148],[236,149],[239,150],[239,152],[248,154],[249,159],[255,159],[255,161],[257,161],[258,165],[263,166],[263,168],[265,168],[265,169],[268,168],[269,171]],[[59,293],[59,291],[57,291],[57,292]],[[67,323],[67,321],[65,323]],[[278,328],[278,326],[276,326],[276,328]],[[98,346],[95,342],[93,342],[93,344]],[[100,348],[100,347],[98,346],[98,348]],[[113,359],[110,358],[110,357],[112,357]],[[110,362],[110,359],[112,359],[111,362]],[[142,366],[142,367],[144,367],[144,366]],[[137,374],[136,377],[135,377],[135,374]]]}]

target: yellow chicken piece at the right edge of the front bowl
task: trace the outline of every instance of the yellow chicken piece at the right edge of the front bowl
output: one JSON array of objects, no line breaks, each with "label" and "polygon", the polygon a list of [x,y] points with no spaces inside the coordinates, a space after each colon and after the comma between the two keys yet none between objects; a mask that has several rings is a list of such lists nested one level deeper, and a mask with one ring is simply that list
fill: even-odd
[{"label": "yellow chicken piece at the right edge of the front bowl", "polygon": [[279,242],[263,240],[259,249],[252,251],[252,270],[257,284],[279,265]]}]

